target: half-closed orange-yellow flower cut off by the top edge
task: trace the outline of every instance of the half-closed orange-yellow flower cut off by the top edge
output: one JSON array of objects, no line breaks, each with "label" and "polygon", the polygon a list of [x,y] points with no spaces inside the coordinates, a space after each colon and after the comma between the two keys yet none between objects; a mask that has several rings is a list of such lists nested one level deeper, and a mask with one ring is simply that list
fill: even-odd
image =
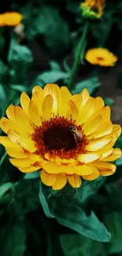
[{"label": "half-closed orange-yellow flower cut off by the top edge", "polygon": [[[88,9],[91,9],[92,16],[102,17],[104,3],[105,0],[86,0],[85,2],[81,3],[81,9],[84,8],[85,12],[87,12]],[[92,10],[96,11],[97,13],[92,12]]]}]

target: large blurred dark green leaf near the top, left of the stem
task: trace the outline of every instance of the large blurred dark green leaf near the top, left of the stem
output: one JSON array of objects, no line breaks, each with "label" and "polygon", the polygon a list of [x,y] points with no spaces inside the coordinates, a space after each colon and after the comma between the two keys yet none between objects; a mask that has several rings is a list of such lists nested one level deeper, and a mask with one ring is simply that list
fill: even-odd
[{"label": "large blurred dark green leaf near the top, left of the stem", "polygon": [[27,37],[34,39],[37,35],[43,35],[46,46],[54,54],[61,54],[70,44],[68,24],[53,6],[43,6],[36,15],[33,14],[32,22],[28,24]]}]

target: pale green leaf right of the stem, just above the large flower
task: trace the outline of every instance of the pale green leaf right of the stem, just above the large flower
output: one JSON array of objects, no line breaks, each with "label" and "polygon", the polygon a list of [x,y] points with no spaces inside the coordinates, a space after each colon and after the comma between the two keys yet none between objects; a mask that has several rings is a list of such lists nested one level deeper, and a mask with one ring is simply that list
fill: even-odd
[{"label": "pale green leaf right of the stem, just above the large flower", "polygon": [[83,80],[76,84],[76,87],[72,90],[72,94],[80,93],[84,88],[86,88],[89,93],[92,95],[96,89],[100,87],[100,83],[98,82],[98,77],[91,77],[87,80]]}]

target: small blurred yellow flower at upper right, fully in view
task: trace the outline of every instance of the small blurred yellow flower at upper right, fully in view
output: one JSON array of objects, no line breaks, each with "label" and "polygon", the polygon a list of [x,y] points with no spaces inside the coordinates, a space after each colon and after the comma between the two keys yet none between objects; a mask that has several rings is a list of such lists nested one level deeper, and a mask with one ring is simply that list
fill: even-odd
[{"label": "small blurred yellow flower at upper right, fully in view", "polygon": [[87,50],[85,58],[92,65],[100,66],[113,66],[117,61],[116,55],[104,48],[93,48]]}]

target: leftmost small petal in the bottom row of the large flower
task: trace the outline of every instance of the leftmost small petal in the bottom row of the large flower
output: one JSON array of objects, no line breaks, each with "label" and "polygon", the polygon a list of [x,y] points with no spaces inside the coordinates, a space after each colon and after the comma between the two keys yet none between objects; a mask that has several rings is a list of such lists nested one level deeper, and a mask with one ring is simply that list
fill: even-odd
[{"label": "leftmost small petal in the bottom row of the large flower", "polygon": [[56,175],[55,174],[49,174],[46,173],[44,170],[41,171],[41,180],[43,181],[43,184],[46,186],[53,186],[56,181]]}]

